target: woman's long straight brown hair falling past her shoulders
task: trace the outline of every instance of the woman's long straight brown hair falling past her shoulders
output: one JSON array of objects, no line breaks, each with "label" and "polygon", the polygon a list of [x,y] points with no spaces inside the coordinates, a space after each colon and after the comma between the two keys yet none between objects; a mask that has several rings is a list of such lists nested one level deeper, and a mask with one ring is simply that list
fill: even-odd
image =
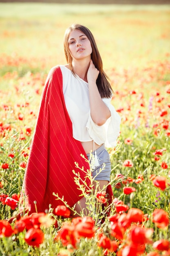
[{"label": "woman's long straight brown hair falling past her shoulders", "polygon": [[72,56],[70,54],[69,47],[68,47],[68,37],[70,32],[75,29],[82,31],[87,36],[88,40],[90,40],[91,47],[92,47],[91,59],[93,61],[93,64],[97,68],[97,70],[99,70],[99,76],[97,77],[97,81],[96,81],[97,88],[102,98],[110,98],[113,94],[113,90],[108,81],[109,78],[103,70],[102,58],[99,54],[99,50],[97,49],[97,45],[93,37],[93,34],[87,27],[79,24],[73,24],[71,27],[66,29],[66,32],[64,35],[64,53],[66,56],[66,61],[70,65],[71,71],[73,72],[73,74],[75,74],[73,65],[72,65]]}]

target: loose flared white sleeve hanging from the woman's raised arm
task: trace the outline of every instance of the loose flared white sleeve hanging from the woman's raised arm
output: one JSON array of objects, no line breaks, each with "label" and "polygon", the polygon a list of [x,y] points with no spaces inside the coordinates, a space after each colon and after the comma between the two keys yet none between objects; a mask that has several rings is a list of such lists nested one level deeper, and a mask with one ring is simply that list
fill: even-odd
[{"label": "loose flared white sleeve hanging from the woman's raised arm", "polygon": [[109,108],[111,117],[107,119],[105,124],[98,126],[91,118],[91,113],[89,112],[86,128],[88,129],[89,135],[95,141],[95,143],[98,145],[104,143],[107,148],[112,148],[117,144],[117,137],[120,132],[121,117],[111,104],[111,98],[104,98],[102,100]]}]

